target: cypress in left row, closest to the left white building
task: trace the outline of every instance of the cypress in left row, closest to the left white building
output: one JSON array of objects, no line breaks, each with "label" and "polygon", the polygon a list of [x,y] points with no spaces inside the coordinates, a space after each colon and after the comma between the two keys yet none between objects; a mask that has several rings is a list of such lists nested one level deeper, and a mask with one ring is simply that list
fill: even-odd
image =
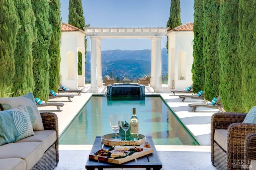
[{"label": "cypress in left row, closest to the left white building", "polygon": [[50,57],[50,89],[58,91],[60,83],[60,0],[50,0],[49,23],[52,26],[51,42],[49,46]]}]

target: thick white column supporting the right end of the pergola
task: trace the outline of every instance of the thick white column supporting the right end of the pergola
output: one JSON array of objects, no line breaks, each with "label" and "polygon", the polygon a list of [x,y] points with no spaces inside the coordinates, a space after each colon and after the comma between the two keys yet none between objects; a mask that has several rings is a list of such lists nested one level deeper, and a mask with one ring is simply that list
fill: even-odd
[{"label": "thick white column supporting the right end of the pergola", "polygon": [[[162,36],[151,38],[151,80],[155,92],[162,92],[162,54],[161,54]],[[150,80],[150,86],[151,86]]]}]

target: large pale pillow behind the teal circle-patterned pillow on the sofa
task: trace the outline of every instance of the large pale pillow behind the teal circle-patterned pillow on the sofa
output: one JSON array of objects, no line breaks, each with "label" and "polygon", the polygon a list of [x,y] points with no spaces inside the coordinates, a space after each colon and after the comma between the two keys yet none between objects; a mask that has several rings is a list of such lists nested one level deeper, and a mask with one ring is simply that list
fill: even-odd
[{"label": "large pale pillow behind the teal circle-patterned pillow on the sofa", "polygon": [[2,104],[4,110],[9,110],[19,107],[20,105],[25,105],[27,107],[33,129],[44,130],[42,117],[36,107],[36,100],[32,93],[28,93],[19,97],[0,98],[0,104]]}]

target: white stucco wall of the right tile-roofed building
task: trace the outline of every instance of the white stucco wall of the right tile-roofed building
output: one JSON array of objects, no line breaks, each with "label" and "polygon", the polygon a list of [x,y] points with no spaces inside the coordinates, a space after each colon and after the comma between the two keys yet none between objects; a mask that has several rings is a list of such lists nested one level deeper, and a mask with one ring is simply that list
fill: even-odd
[{"label": "white stucco wall of the right tile-roofed building", "polygon": [[[193,64],[193,31],[173,31],[168,36],[168,79],[169,87],[172,88],[172,80],[175,81],[175,89],[186,89],[192,85],[192,64]],[[183,55],[184,60],[179,60]],[[182,61],[182,62],[180,62]],[[183,68],[183,69],[180,69]],[[185,70],[184,70],[185,69]],[[180,79],[180,73],[182,78]],[[185,75],[184,75],[185,74]]]}]

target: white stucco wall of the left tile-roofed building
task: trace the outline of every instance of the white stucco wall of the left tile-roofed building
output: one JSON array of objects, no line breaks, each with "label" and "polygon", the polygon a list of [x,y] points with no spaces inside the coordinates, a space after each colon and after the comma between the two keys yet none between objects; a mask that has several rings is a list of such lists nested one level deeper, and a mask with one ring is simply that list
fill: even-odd
[{"label": "white stucco wall of the left tile-roofed building", "polygon": [[[85,85],[85,59],[84,59],[84,38],[85,34],[79,31],[62,32],[60,38],[60,83],[68,89],[78,89]],[[82,53],[82,75],[78,75],[78,51]],[[68,77],[67,55],[74,55],[74,71],[71,77]]]}]

